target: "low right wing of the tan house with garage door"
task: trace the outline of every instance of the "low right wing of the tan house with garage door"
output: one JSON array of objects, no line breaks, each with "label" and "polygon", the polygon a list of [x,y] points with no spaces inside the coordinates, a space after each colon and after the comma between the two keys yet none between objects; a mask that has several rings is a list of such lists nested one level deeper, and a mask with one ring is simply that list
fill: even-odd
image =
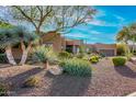
[{"label": "low right wing of the tan house with garage door", "polygon": [[105,56],[116,56],[116,44],[87,44],[92,52],[103,54]]}]

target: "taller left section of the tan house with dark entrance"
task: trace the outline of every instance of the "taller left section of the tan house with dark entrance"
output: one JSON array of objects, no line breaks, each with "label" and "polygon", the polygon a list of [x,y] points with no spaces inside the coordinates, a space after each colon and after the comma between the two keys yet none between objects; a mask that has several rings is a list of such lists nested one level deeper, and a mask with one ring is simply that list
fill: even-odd
[{"label": "taller left section of the tan house with dark entrance", "polygon": [[68,39],[63,37],[59,33],[48,32],[43,35],[42,44],[45,46],[52,46],[57,53],[67,50],[77,54],[83,42],[80,39]]}]

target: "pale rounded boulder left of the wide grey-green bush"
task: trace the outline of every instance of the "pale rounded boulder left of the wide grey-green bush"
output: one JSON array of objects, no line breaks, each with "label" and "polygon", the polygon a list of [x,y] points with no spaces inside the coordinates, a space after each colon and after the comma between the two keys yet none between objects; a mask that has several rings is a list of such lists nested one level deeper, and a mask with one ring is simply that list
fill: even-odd
[{"label": "pale rounded boulder left of the wide grey-green bush", "polygon": [[52,75],[61,75],[63,73],[63,68],[58,67],[58,66],[52,66],[48,71]]}]

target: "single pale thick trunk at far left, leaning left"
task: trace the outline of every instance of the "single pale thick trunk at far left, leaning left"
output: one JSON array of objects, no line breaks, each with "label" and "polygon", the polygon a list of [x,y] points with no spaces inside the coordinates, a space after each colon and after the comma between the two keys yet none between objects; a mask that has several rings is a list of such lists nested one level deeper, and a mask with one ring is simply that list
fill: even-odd
[{"label": "single pale thick trunk at far left, leaning left", "polygon": [[7,54],[7,58],[8,58],[9,63],[10,63],[11,65],[16,65],[16,63],[15,63],[15,60],[14,60],[14,58],[13,58],[13,55],[12,55],[11,46],[8,46],[8,47],[5,48],[5,54]]}]

